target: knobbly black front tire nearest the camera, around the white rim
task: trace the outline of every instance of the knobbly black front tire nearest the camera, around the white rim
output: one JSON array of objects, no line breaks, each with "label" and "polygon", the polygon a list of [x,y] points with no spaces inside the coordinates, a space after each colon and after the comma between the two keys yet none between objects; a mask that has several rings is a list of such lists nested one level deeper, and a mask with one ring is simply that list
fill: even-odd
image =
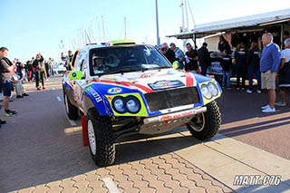
[{"label": "knobbly black front tire nearest the camera, around the white rim", "polygon": [[90,120],[92,121],[95,136],[95,154],[92,153],[92,147],[89,141],[92,159],[99,167],[110,166],[115,160],[115,139],[111,127],[111,118],[100,115],[95,109],[89,110],[86,118],[87,125]]}]

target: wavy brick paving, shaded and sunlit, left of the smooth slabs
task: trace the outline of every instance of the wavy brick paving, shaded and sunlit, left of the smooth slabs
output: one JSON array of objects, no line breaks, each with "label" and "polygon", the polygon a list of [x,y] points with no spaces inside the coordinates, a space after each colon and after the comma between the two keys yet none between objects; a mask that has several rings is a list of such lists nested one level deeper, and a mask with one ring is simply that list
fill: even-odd
[{"label": "wavy brick paving, shaded and sunlit, left of the smooth slabs", "polygon": [[[126,193],[232,192],[174,151],[156,146],[170,140],[142,139],[134,141],[133,145],[131,141],[118,143],[116,164],[97,168],[88,148],[82,147],[80,127],[74,128],[71,134],[63,132],[71,126],[65,118],[63,102],[56,100],[57,96],[62,97],[56,81],[60,79],[47,82],[48,90],[44,92],[34,92],[34,85],[26,84],[31,96],[23,99],[26,102],[15,100],[12,103],[20,113],[17,118],[5,119],[7,124],[0,130],[1,193],[110,192],[104,179],[111,179],[119,192]],[[30,108],[35,112],[29,111]],[[80,125],[80,121],[77,124]],[[174,139],[177,143],[192,145],[191,140],[186,141],[187,137],[179,137]],[[131,153],[132,146],[136,148]],[[157,151],[152,153],[146,149]]]}]

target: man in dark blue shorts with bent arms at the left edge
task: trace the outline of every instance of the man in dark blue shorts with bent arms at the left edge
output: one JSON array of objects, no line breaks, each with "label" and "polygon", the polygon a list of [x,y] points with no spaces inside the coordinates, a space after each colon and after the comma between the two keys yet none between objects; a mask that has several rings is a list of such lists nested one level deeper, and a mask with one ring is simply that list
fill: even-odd
[{"label": "man in dark blue shorts with bent arms at the left edge", "polygon": [[5,47],[0,48],[0,73],[1,73],[1,87],[3,92],[3,104],[5,108],[5,116],[12,116],[17,114],[16,111],[9,109],[9,97],[11,95],[11,73],[14,71],[14,65],[6,58],[8,49]]}]

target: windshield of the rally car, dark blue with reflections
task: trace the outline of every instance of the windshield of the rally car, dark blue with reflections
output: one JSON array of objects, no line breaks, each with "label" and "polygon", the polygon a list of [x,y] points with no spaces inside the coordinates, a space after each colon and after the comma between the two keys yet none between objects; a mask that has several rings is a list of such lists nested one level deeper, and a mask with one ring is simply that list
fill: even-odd
[{"label": "windshield of the rally car, dark blue with reflections", "polygon": [[91,75],[171,68],[165,57],[153,46],[111,46],[91,51]]}]

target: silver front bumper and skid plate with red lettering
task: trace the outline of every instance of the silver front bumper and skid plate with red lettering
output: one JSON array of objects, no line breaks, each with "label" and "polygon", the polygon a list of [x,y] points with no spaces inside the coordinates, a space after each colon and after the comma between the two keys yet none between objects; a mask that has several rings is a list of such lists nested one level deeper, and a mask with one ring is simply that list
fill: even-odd
[{"label": "silver front bumper and skid plate with red lettering", "polygon": [[207,111],[207,107],[189,109],[185,111],[163,114],[143,120],[139,132],[141,134],[158,134],[173,130],[180,125],[188,123],[196,114]]}]

